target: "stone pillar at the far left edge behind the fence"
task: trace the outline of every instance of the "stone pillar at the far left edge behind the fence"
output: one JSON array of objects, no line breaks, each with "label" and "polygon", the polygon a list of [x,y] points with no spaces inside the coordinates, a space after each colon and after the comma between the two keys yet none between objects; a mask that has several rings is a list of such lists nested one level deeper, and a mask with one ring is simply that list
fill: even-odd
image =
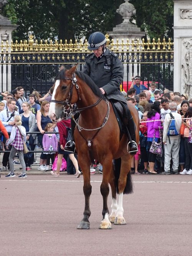
[{"label": "stone pillar at the far left edge behind the fence", "polygon": [[[2,45],[10,45],[12,40],[12,31],[15,30],[18,25],[12,25],[8,18],[0,15],[0,52],[1,55],[6,49]],[[9,47],[10,50],[10,47]],[[3,60],[3,58],[2,58]],[[2,64],[2,62],[1,62]],[[2,65],[0,69],[0,91],[11,91],[11,65]],[[3,77],[2,77],[3,76]],[[3,81],[3,83],[2,83]]]}]

